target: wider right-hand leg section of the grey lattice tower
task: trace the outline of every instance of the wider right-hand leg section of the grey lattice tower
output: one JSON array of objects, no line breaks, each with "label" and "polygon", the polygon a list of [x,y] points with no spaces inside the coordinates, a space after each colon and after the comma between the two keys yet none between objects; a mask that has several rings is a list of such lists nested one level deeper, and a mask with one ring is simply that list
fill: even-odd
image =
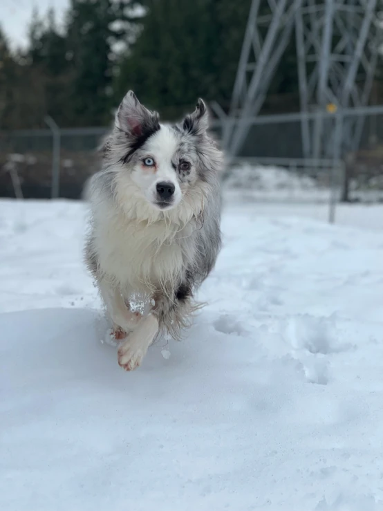
[{"label": "wider right-hand leg section of the grey lattice tower", "polygon": [[[380,45],[377,0],[304,0],[295,15],[303,156],[341,157],[359,146],[364,117],[345,108],[368,104]],[[335,121],[324,120],[330,108]]]}]

